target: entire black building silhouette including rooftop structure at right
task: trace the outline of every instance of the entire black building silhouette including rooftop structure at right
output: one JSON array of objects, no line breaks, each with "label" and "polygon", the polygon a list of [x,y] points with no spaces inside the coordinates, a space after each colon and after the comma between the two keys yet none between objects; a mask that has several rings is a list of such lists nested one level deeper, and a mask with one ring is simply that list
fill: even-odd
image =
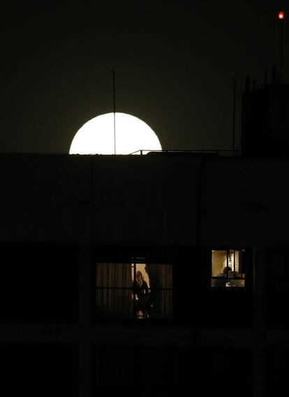
[{"label": "entire black building silhouette including rooftop structure at right", "polygon": [[1,154],[3,396],[281,393],[288,120],[272,81],[244,92],[242,153]]}]

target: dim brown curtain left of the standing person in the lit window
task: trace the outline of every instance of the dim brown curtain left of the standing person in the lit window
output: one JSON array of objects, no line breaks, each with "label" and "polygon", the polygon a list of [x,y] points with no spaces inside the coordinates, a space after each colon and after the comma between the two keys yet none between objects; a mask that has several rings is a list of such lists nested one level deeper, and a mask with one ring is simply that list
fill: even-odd
[{"label": "dim brown curtain left of the standing person in the lit window", "polygon": [[132,317],[131,264],[96,264],[96,317]]}]

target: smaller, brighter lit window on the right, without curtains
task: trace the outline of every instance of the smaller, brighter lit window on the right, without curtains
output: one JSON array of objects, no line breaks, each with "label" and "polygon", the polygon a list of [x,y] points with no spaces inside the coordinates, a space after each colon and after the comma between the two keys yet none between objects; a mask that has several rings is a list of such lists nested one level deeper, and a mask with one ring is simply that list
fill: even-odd
[{"label": "smaller, brighter lit window on the right, without curtains", "polygon": [[245,250],[212,250],[212,287],[245,287]]}]

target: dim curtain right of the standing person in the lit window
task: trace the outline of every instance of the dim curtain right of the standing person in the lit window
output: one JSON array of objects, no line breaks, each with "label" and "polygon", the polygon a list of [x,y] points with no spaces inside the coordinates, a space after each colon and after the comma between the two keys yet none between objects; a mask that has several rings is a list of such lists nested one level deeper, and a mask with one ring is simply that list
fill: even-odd
[{"label": "dim curtain right of the standing person in the lit window", "polygon": [[151,319],[172,319],[172,265],[146,264],[151,289]]}]

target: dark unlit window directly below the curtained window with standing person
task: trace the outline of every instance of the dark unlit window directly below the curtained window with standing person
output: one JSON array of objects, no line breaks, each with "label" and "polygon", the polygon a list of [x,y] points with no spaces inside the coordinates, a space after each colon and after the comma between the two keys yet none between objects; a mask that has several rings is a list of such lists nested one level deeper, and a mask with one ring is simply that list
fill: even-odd
[{"label": "dark unlit window directly below the curtained window with standing person", "polygon": [[175,347],[96,347],[93,396],[175,396],[176,356]]}]

